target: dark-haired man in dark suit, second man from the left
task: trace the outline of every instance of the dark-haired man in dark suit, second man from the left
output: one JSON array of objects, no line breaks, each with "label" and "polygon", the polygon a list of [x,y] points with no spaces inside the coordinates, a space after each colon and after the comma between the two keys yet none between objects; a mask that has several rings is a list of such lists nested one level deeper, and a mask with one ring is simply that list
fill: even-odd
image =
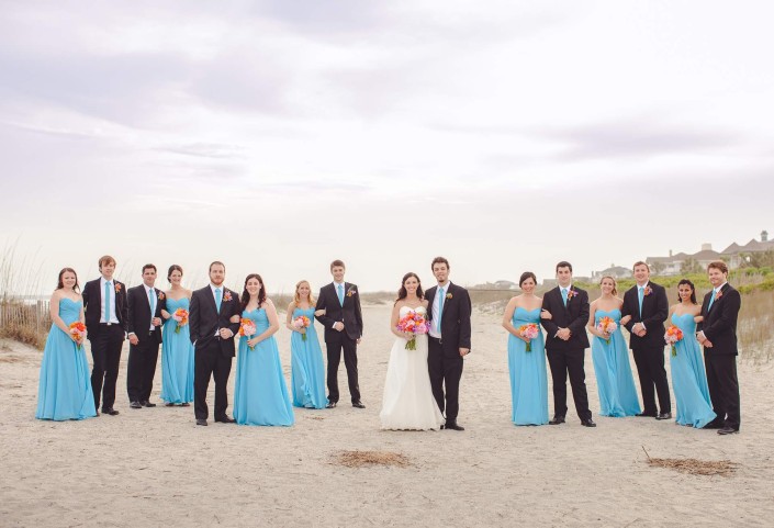
[{"label": "dark-haired man in dark suit, second man from the left", "polygon": [[130,288],[128,301],[128,338],[130,359],[126,364],[126,392],[130,407],[155,407],[150,403],[154,386],[158,346],[161,344],[161,310],[166,299],[161,290],[154,288],[156,267],[143,266],[143,283]]}]

